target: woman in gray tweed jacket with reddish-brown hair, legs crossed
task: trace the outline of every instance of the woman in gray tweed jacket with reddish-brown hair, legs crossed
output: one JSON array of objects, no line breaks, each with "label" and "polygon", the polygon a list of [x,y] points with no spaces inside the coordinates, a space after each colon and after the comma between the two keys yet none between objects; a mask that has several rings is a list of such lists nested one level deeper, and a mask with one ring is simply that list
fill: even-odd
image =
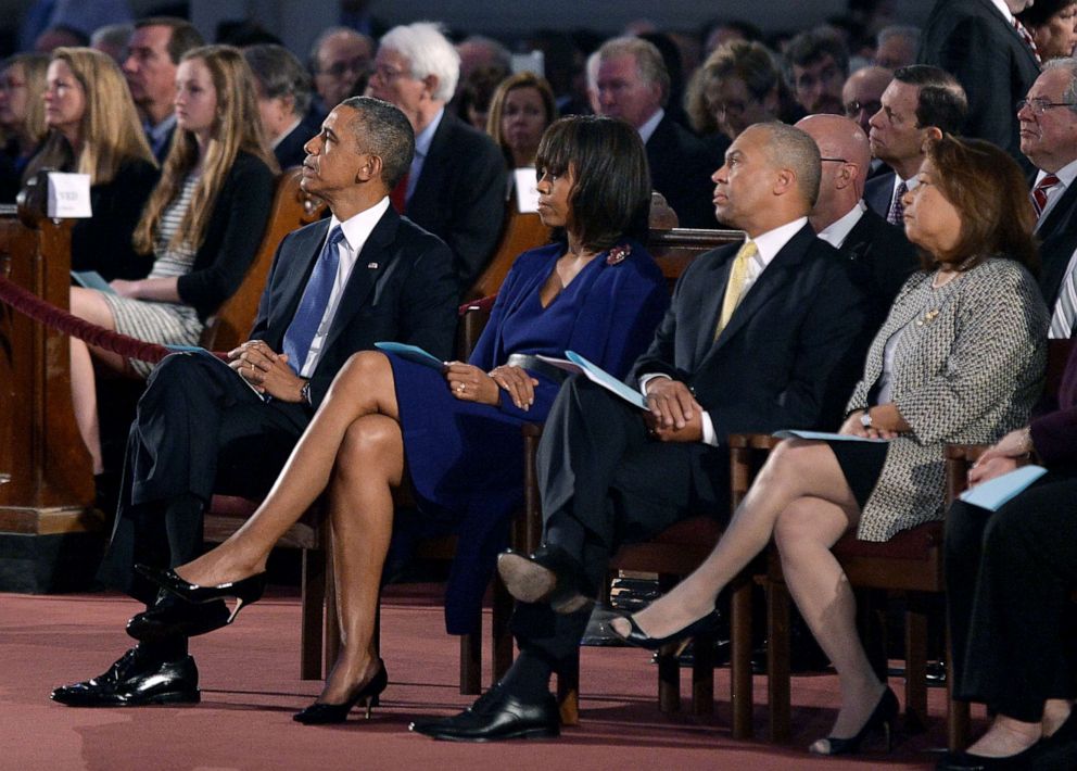
[{"label": "woman in gray tweed jacket with reddish-brown hair, legs crossed", "polygon": [[672,592],[611,625],[629,642],[672,642],[712,612],[718,592],[773,535],[793,598],[838,672],[841,709],[813,753],[856,753],[889,732],[894,693],[876,678],[856,601],[831,553],[943,509],[943,447],[994,442],[1023,426],[1039,395],[1048,314],[1025,265],[1035,223],[1016,163],[979,140],[929,146],[904,199],[905,233],[925,252],[879,329],[840,429],[866,441],[783,442],[707,560]]}]

